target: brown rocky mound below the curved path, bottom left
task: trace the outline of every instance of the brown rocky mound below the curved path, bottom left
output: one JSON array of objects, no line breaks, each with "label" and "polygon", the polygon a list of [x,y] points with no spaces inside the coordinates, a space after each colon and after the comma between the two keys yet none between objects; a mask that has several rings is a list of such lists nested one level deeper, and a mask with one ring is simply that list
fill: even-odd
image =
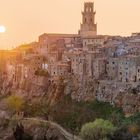
[{"label": "brown rocky mound below the curved path, bottom left", "polygon": [[[24,124],[17,124],[15,128],[3,135],[2,140],[67,140],[54,126],[41,126],[36,122],[24,121]],[[26,124],[28,123],[28,124]]]}]

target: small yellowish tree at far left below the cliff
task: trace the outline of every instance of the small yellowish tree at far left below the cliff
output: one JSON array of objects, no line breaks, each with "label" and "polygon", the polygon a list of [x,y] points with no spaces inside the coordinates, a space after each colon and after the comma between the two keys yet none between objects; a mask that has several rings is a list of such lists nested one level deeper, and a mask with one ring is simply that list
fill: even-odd
[{"label": "small yellowish tree at far left below the cliff", "polygon": [[13,112],[19,112],[24,104],[22,98],[11,95],[7,98],[7,105]]}]

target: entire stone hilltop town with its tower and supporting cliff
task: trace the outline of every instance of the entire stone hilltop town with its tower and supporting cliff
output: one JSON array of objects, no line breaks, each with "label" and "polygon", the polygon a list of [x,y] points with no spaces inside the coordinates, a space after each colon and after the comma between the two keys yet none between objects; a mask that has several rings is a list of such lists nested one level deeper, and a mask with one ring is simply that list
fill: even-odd
[{"label": "entire stone hilltop town with its tower and supporting cliff", "polygon": [[[44,33],[37,42],[0,51],[0,92],[53,104],[70,94],[140,111],[140,33],[98,35],[94,3],[86,2],[77,34]],[[62,93],[63,92],[63,93]]]}]

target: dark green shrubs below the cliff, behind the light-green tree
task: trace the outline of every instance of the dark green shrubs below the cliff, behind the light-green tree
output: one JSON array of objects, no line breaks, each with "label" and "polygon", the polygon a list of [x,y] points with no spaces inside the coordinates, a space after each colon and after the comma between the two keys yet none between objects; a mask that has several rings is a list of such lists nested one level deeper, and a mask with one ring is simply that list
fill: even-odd
[{"label": "dark green shrubs below the cliff, behind the light-green tree", "polygon": [[96,118],[108,119],[113,124],[120,125],[124,117],[121,109],[113,107],[109,103],[96,100],[76,102],[71,100],[69,95],[64,96],[51,107],[50,115],[54,121],[76,134],[79,133],[82,125],[93,122]]}]

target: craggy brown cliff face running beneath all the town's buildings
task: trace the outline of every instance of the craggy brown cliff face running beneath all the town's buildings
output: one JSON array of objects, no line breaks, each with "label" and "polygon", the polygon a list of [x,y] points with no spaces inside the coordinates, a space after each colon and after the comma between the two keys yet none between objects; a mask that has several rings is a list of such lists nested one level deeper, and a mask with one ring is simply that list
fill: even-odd
[{"label": "craggy brown cliff face running beneath all the town's buildings", "polygon": [[[6,77],[3,78],[6,81]],[[139,83],[95,80],[89,77],[79,80],[73,75],[68,75],[65,78],[54,79],[53,82],[50,81],[44,85],[24,81],[24,84],[13,87],[12,84],[3,82],[0,88],[2,93],[14,92],[28,100],[45,100],[50,106],[59,101],[63,95],[70,94],[72,99],[77,101],[97,99],[109,102],[122,107],[126,114],[140,111]]]}]

